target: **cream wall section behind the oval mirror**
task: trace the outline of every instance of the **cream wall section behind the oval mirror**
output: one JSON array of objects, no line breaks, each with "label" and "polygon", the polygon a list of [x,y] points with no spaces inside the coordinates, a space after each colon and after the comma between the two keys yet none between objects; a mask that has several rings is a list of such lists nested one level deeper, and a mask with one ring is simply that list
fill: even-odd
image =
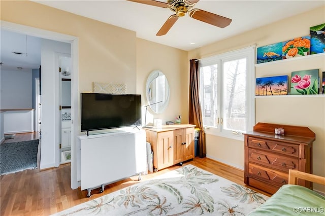
[{"label": "cream wall section behind the oval mirror", "polygon": [[163,114],[154,114],[148,107],[147,123],[153,119],[175,121],[182,115],[182,123],[187,123],[187,52],[165,45],[137,39],[137,93],[142,94],[142,103],[147,105],[146,81],[153,70],[160,70],[170,86],[169,105]]}]

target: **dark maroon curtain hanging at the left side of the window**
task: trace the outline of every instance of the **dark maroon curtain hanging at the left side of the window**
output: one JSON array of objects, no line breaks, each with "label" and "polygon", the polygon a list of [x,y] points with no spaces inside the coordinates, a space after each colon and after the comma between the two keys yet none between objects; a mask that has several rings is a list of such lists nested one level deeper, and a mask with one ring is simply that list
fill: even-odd
[{"label": "dark maroon curtain hanging at the left side of the window", "polygon": [[189,60],[189,103],[188,103],[188,122],[200,128],[199,156],[206,157],[205,133],[203,130],[203,118],[201,104],[199,100],[199,62],[197,59]]}]

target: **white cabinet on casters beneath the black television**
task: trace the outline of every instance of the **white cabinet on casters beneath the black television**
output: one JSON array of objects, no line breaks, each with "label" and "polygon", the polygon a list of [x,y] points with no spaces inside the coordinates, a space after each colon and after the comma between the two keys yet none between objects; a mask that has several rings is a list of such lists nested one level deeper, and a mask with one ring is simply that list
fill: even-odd
[{"label": "white cabinet on casters beneath the black television", "polygon": [[[81,190],[88,190],[147,172],[146,133],[142,129],[119,130],[77,139],[80,150]],[[78,154],[79,155],[79,154]],[[79,179],[78,179],[79,180]]]}]

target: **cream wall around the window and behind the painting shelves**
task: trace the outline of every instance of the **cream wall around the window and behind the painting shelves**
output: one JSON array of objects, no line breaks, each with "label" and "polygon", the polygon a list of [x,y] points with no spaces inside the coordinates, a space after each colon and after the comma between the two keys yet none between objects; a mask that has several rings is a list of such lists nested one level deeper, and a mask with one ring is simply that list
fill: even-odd
[{"label": "cream wall around the window and behind the painting shelves", "polygon": [[[302,37],[309,34],[309,27],[325,22],[325,8],[290,17],[276,23],[188,52],[188,60],[203,58],[218,53],[257,47]],[[291,71],[319,69],[325,71],[324,55],[299,60],[279,61],[255,67],[255,77],[288,75]],[[255,122],[307,126],[315,134],[313,143],[313,173],[325,176],[325,96],[275,96],[255,98]],[[207,155],[216,160],[244,167],[243,141],[207,135]],[[325,192],[325,187],[316,185],[315,190]]]}]

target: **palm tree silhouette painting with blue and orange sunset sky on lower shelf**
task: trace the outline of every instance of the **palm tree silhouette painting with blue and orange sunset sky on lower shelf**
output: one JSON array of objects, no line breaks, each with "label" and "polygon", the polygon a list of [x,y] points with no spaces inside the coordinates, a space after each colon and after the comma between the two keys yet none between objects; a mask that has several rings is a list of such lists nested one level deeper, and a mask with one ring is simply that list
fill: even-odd
[{"label": "palm tree silhouette painting with blue and orange sunset sky on lower shelf", "polygon": [[288,76],[256,78],[255,95],[287,95]]}]

